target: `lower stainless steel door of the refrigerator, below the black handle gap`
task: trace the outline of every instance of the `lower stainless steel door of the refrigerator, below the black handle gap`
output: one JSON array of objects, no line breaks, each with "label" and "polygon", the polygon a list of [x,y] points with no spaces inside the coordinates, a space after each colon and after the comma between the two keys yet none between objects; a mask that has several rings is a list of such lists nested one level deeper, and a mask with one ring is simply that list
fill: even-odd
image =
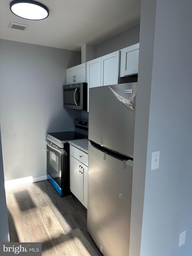
[{"label": "lower stainless steel door of the refrigerator, below the black handle gap", "polygon": [[87,228],[104,256],[129,255],[132,176],[132,166],[89,141]]}]

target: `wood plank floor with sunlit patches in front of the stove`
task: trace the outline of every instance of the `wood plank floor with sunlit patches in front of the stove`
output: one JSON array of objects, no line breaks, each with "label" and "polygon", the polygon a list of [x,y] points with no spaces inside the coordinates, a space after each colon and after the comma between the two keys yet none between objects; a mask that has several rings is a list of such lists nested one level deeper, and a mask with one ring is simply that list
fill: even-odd
[{"label": "wood plank floor with sunlit patches in front of the stove", "polygon": [[87,230],[87,209],[47,181],[6,189],[10,242],[42,242],[44,256],[102,256]]}]

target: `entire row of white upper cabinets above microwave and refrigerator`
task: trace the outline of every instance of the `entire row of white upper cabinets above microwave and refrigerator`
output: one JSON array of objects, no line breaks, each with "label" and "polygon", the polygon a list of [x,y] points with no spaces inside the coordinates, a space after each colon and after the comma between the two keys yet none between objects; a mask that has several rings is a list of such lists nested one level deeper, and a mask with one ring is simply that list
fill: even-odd
[{"label": "entire row of white upper cabinets above microwave and refrigerator", "polygon": [[139,43],[68,68],[67,84],[87,82],[87,111],[89,111],[89,88],[118,84],[119,77],[137,74],[138,62]]}]

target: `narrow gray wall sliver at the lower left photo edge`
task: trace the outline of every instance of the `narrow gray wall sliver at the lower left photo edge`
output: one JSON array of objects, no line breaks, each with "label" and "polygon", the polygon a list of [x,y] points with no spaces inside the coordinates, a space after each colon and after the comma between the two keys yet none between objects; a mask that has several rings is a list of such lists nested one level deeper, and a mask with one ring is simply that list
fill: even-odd
[{"label": "narrow gray wall sliver at the lower left photo edge", "polygon": [[9,227],[7,218],[7,204],[4,187],[4,172],[3,172],[3,155],[1,147],[1,131],[0,131],[0,242],[9,242]]}]

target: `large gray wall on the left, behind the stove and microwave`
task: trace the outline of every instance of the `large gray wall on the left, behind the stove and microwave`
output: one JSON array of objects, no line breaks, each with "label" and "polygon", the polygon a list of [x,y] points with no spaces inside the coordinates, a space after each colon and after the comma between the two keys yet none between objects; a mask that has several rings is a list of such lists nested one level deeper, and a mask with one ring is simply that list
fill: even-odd
[{"label": "large gray wall on the left, behind the stove and microwave", "polygon": [[46,132],[73,130],[63,108],[66,68],[81,53],[0,40],[0,123],[5,180],[46,175]]}]

